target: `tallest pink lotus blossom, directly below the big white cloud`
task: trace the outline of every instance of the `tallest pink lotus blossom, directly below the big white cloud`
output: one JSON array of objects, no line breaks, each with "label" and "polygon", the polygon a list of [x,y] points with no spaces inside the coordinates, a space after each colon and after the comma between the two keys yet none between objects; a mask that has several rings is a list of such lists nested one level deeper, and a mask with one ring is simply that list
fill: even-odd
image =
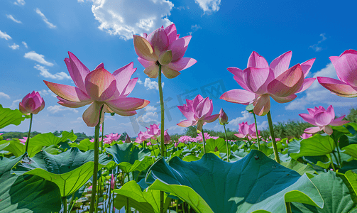
[{"label": "tallest pink lotus blossom, directly below the big white cloud", "polygon": [[161,72],[167,78],[180,75],[181,70],[194,65],[197,60],[193,58],[182,58],[185,55],[191,35],[179,38],[176,26],[172,23],[167,28],[156,29],[149,35],[133,35],[135,52],[138,61],[145,67],[144,73],[148,77],[158,77],[160,63]]}]

